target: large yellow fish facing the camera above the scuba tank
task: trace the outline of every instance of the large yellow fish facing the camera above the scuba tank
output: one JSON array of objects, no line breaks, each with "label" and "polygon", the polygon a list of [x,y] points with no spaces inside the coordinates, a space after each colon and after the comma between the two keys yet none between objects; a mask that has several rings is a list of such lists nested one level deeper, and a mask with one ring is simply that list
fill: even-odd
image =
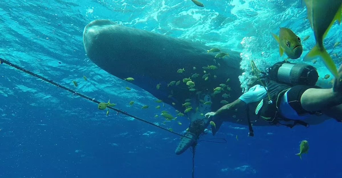
[{"label": "large yellow fish facing the camera above the scuba tank", "polygon": [[272,33],[273,38],[279,44],[279,53],[285,54],[290,59],[298,59],[303,53],[303,46],[300,38],[288,28],[279,28],[279,36]]}]

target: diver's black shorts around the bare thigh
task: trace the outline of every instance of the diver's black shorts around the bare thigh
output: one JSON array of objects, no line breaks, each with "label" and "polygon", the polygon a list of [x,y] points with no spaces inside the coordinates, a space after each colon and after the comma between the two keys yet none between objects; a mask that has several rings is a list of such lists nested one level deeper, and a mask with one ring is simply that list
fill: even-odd
[{"label": "diver's black shorts around the bare thigh", "polygon": [[287,99],[290,106],[297,112],[298,115],[303,115],[306,113],[312,114],[312,112],[308,112],[307,110],[303,109],[300,99],[303,93],[309,88],[321,88],[319,86],[307,86],[307,85],[296,85],[292,87],[287,92]]}]

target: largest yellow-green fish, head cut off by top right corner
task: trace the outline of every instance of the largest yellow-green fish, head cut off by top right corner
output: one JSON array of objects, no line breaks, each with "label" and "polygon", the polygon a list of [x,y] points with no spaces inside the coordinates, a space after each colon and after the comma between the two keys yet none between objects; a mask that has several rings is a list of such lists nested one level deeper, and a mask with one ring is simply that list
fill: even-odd
[{"label": "largest yellow-green fish, head cut off by top right corner", "polygon": [[323,40],[335,20],[339,24],[341,22],[342,0],[303,0],[303,2],[306,5],[307,19],[310,21],[316,40],[316,45],[304,57],[304,61],[310,61],[314,57],[320,56],[334,77],[339,78],[336,65],[324,48]]}]

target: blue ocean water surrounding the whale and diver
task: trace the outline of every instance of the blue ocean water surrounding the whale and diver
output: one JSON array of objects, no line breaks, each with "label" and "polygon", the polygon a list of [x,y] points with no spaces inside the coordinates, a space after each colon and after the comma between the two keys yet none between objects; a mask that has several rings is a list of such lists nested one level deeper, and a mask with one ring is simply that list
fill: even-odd
[{"label": "blue ocean water surrounding the whale and diver", "polygon": [[[153,95],[88,59],[82,32],[90,21],[110,19],[239,51],[241,68],[246,71],[250,59],[261,69],[284,59],[279,58],[278,45],[270,35],[278,34],[279,27],[292,29],[302,39],[311,36],[303,42],[303,55],[315,44],[300,1],[201,2],[204,8],[190,0],[3,0],[0,57],[96,100],[110,99],[132,115],[161,123],[160,117],[154,118],[160,111],[154,109]],[[334,24],[324,41],[329,54],[336,53],[337,65],[341,50],[333,45],[341,40],[341,32]],[[320,76],[328,73],[321,60],[315,67]],[[5,64],[0,65],[0,81],[0,177],[191,177],[192,153],[174,154],[179,136],[114,111],[106,116],[97,104]],[[130,106],[129,101],[135,104]],[[142,105],[150,108],[142,111]],[[172,106],[164,109],[176,114]],[[181,133],[188,127],[186,122],[170,122],[167,127]],[[254,127],[254,133],[248,137],[246,126],[225,123],[215,136],[203,136],[225,138],[227,143],[198,144],[195,177],[342,177],[341,123],[329,120],[293,129]],[[294,154],[303,139],[308,140],[310,150],[300,160]]]}]

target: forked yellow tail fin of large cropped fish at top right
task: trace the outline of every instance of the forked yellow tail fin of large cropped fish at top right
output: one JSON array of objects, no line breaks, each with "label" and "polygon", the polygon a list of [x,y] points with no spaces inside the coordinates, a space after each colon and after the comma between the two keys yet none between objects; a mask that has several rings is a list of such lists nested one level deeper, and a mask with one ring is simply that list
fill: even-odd
[{"label": "forked yellow tail fin of large cropped fish at top right", "polygon": [[323,48],[319,49],[318,45],[314,46],[311,51],[304,57],[304,61],[310,61],[312,58],[320,56],[323,59],[323,62],[327,69],[331,72],[332,75],[334,75],[335,78],[340,78],[339,74],[337,72],[336,65],[328,52]]}]

